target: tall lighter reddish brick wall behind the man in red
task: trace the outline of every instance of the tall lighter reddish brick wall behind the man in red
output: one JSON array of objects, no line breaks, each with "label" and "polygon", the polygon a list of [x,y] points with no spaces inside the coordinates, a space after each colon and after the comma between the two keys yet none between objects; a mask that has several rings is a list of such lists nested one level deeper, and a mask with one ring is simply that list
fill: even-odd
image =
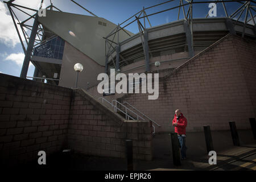
[{"label": "tall lighter reddish brick wall behind the man in red", "polygon": [[227,36],[160,79],[158,100],[148,100],[147,94],[126,94],[119,100],[160,123],[156,132],[174,130],[175,109],[188,119],[187,131],[202,130],[204,125],[227,130],[228,121],[249,129],[248,118],[255,117],[256,105],[255,52],[255,41]]}]

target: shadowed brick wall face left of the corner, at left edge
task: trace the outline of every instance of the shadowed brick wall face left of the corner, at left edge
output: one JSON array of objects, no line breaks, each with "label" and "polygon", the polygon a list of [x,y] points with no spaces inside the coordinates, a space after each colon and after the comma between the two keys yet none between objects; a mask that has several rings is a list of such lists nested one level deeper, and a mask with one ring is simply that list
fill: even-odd
[{"label": "shadowed brick wall face left of the corner, at left edge", "polygon": [[0,160],[10,166],[60,151],[71,89],[0,74]]}]

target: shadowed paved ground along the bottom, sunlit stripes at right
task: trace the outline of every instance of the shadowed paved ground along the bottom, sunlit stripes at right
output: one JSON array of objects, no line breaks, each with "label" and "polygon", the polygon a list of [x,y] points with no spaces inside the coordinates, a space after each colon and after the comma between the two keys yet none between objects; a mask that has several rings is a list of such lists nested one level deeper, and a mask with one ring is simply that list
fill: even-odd
[{"label": "shadowed paved ground along the bottom, sunlit stripes at right", "polygon": [[[212,171],[212,170],[255,170],[256,169],[256,144],[246,146],[233,146],[228,150],[217,152],[217,164],[210,165],[208,155],[192,156],[181,160],[181,166],[174,166],[172,156],[164,154],[163,158],[155,157],[152,161],[134,160],[134,170],[154,171]],[[126,160],[116,158],[100,158],[96,156],[71,156],[70,163],[64,163],[71,170],[100,170],[100,171],[126,171]]]}]

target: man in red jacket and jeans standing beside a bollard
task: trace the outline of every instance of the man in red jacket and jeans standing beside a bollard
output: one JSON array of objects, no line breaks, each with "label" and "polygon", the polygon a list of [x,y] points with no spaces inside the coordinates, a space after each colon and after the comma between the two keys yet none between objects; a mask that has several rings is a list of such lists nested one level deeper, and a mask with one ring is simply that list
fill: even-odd
[{"label": "man in red jacket and jeans standing beside a bollard", "polygon": [[186,159],[186,127],[187,119],[183,116],[179,109],[175,110],[174,120],[172,120],[172,125],[175,126],[175,133],[179,139],[181,148],[181,159]]}]

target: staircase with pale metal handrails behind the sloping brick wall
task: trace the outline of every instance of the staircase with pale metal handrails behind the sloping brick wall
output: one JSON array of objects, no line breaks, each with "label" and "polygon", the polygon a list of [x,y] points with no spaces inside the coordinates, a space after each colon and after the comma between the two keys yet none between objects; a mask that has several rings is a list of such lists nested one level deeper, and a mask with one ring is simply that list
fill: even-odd
[{"label": "staircase with pale metal handrails behind the sloping brick wall", "polygon": [[110,107],[110,109],[113,109],[115,113],[120,114],[123,118],[126,120],[142,120],[142,121],[148,121],[152,123],[153,131],[152,134],[155,134],[155,125],[160,127],[158,123],[156,123],[153,119],[148,117],[146,114],[142,113],[142,111],[138,110],[133,105],[129,104],[129,102],[118,102],[117,100],[113,100],[109,102],[103,97],[99,97],[102,101],[102,104],[106,105],[107,107]]}]

